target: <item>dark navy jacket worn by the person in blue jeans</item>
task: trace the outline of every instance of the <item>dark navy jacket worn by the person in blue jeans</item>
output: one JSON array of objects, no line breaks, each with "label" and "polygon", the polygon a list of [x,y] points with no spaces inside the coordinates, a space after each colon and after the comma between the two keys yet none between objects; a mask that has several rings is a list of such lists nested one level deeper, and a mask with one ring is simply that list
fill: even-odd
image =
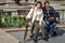
[{"label": "dark navy jacket worn by the person in blue jeans", "polygon": [[55,10],[52,6],[50,6],[50,10],[49,10],[50,16],[48,15],[48,11],[44,6],[42,8],[42,11],[43,11],[43,19],[48,19],[49,17],[54,17],[54,20],[55,20]]}]

